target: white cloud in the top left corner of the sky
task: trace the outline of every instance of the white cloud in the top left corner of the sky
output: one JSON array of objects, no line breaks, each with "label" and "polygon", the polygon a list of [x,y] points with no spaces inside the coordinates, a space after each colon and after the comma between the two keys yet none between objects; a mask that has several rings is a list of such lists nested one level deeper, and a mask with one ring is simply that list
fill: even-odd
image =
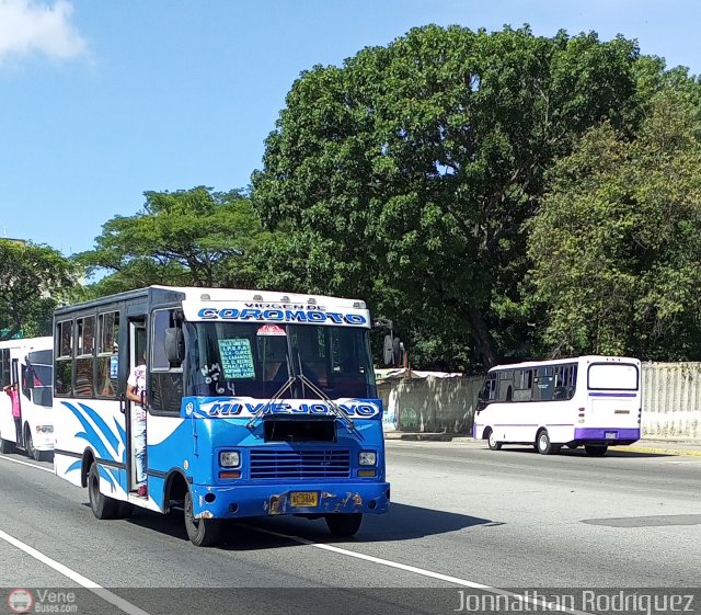
[{"label": "white cloud in the top left corner of the sky", "polygon": [[0,62],[10,56],[43,54],[60,60],[85,52],[85,42],[70,21],[67,0],[0,0]]}]

